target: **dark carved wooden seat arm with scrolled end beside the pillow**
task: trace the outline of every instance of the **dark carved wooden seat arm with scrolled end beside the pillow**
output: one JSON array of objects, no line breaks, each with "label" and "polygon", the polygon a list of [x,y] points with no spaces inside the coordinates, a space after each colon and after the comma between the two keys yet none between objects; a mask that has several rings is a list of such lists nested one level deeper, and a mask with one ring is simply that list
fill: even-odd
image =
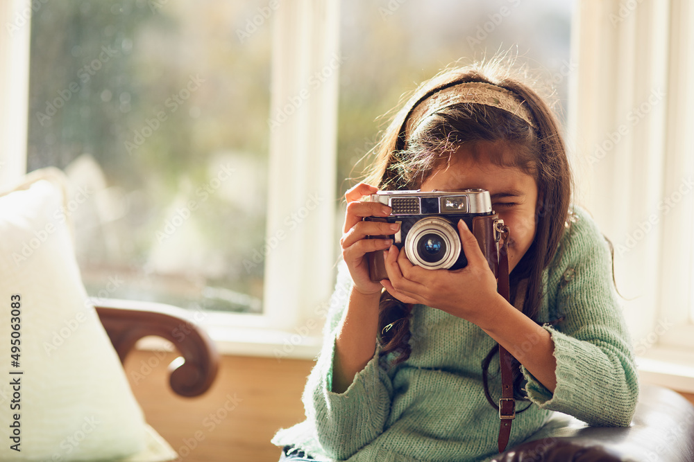
[{"label": "dark carved wooden seat arm with scrolled end beside the pillow", "polygon": [[92,299],[121,362],[148,335],[171,341],[181,357],[169,366],[169,384],[180,396],[198,396],[214,382],[219,354],[210,337],[185,319],[186,311],[164,303]]}]

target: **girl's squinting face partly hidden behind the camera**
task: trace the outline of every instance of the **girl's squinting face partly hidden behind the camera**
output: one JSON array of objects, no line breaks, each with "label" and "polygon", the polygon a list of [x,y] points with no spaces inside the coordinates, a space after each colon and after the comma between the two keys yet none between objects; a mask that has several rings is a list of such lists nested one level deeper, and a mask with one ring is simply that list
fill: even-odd
[{"label": "girl's squinting face partly hidden behind the camera", "polygon": [[[472,155],[475,150],[475,156]],[[523,258],[535,238],[537,184],[532,175],[515,167],[498,166],[490,159],[513,155],[498,143],[481,142],[462,145],[451,155],[448,165],[436,170],[421,189],[489,190],[493,210],[511,229],[509,239],[509,272]],[[493,156],[493,157],[492,157]],[[475,157],[477,160],[475,160]]]}]

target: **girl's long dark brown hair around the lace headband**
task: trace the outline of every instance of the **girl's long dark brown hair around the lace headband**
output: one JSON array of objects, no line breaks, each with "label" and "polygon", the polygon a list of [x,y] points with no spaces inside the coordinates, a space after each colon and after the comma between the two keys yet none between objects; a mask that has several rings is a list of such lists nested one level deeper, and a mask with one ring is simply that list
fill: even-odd
[{"label": "girl's long dark brown hair around the lace headband", "polygon": [[[502,109],[464,103],[428,116],[410,138],[405,139],[403,126],[412,109],[439,89],[462,82],[486,82],[513,92],[530,110],[534,127]],[[502,150],[499,151],[513,155],[511,159],[502,155],[491,161],[521,168],[532,175],[537,184],[536,234],[530,249],[511,272],[511,301],[520,295],[516,294],[518,282],[527,279],[522,310],[527,317],[538,321],[536,317],[543,296],[542,272],[552,261],[564,233],[572,179],[557,118],[536,91],[512,76],[509,66],[495,61],[455,67],[424,82],[384,130],[372,152],[375,162],[365,181],[382,190],[418,189],[437,168],[446,165],[457,147],[465,144],[471,148],[467,151],[477,157],[475,148],[481,143],[500,143]],[[392,364],[405,361],[412,353],[409,345],[411,317],[412,305],[401,303],[387,292],[382,294],[379,341],[382,355],[393,353]],[[482,362],[488,399],[486,376],[496,350],[493,348]],[[524,398],[522,382],[520,369],[514,367],[514,389],[521,399]]]}]

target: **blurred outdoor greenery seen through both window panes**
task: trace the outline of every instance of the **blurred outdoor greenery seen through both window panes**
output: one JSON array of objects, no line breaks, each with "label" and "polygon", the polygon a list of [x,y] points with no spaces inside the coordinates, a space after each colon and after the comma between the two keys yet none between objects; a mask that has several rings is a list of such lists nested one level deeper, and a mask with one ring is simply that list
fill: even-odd
[{"label": "blurred outdoor greenery seen through both window panes", "polygon": [[[379,116],[456,60],[518,55],[556,89],[564,120],[571,3],[342,1],[337,197],[370,162]],[[270,5],[82,0],[33,13],[27,170],[57,166],[83,188],[68,214],[91,295],[262,312]]]}]

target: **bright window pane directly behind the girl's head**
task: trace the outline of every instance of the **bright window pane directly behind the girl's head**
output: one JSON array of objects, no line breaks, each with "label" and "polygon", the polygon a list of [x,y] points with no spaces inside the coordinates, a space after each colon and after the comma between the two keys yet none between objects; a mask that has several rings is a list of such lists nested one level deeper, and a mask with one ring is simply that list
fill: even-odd
[{"label": "bright window pane directly behind the girl's head", "polygon": [[[338,132],[338,197],[371,161],[382,114],[443,66],[497,53],[537,76],[539,91],[565,120],[573,1],[343,1]],[[528,33],[532,30],[532,33]],[[357,163],[359,159],[361,163]]]}]

